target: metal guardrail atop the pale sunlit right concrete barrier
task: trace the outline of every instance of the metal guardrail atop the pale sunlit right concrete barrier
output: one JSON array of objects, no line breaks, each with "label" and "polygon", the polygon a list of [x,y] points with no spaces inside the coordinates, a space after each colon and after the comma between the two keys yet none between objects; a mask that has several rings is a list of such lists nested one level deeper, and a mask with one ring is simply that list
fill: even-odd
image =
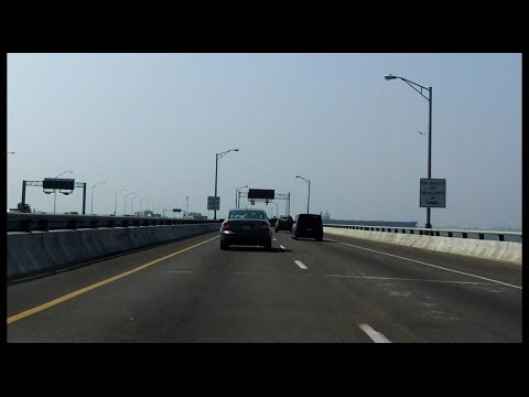
[{"label": "metal guardrail atop the pale sunlit right concrete barrier", "polygon": [[438,237],[455,237],[455,238],[472,238],[485,240],[499,240],[521,243],[521,232],[501,232],[501,230],[460,230],[460,229],[433,229],[421,227],[386,227],[386,226],[365,226],[365,225],[334,225],[324,224],[324,227],[347,228],[366,232],[386,232],[386,233],[403,233],[414,234],[421,236],[438,236]]}]

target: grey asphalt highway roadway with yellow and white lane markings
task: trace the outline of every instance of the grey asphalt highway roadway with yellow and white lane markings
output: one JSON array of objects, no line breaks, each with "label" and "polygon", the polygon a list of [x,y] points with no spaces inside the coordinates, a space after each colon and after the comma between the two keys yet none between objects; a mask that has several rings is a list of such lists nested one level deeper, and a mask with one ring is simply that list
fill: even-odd
[{"label": "grey asphalt highway roadway with yellow and white lane markings", "polygon": [[521,342],[521,266],[207,234],[8,287],[8,342]]}]

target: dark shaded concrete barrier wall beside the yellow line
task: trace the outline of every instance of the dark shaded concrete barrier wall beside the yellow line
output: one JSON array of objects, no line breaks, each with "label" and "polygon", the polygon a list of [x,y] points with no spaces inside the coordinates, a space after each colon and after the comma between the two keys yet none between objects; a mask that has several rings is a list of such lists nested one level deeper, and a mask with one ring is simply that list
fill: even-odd
[{"label": "dark shaded concrete barrier wall beside the yellow line", "polygon": [[218,223],[8,233],[8,281],[218,230]]}]

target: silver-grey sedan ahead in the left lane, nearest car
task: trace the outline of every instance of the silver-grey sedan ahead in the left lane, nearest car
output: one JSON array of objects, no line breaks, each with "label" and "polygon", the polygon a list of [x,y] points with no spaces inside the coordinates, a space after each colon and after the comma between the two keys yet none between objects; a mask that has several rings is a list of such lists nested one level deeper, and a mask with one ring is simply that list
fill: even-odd
[{"label": "silver-grey sedan ahead in the left lane, nearest car", "polygon": [[220,224],[220,249],[230,245],[260,245],[272,248],[272,229],[263,210],[230,210]]}]

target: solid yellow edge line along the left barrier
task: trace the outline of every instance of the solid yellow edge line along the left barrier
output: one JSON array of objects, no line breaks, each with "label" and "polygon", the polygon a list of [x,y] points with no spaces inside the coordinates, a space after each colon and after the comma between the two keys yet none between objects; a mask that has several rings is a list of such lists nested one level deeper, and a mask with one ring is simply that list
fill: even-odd
[{"label": "solid yellow edge line along the left barrier", "polygon": [[141,265],[141,266],[139,266],[139,267],[137,267],[137,268],[134,268],[134,269],[132,269],[132,270],[128,270],[128,271],[122,272],[122,273],[120,273],[120,275],[110,277],[110,278],[108,278],[108,279],[106,279],[106,280],[102,280],[102,281],[93,283],[91,286],[88,286],[88,287],[82,288],[82,289],[79,289],[79,290],[77,290],[77,291],[67,293],[67,294],[65,294],[65,296],[63,296],[63,297],[61,297],[61,298],[54,299],[54,300],[52,300],[52,301],[50,301],[50,302],[43,303],[43,304],[37,305],[37,307],[33,308],[33,309],[25,310],[25,311],[23,311],[23,312],[21,312],[21,313],[19,313],[19,314],[11,315],[10,318],[8,318],[8,324],[11,324],[12,322],[15,322],[15,321],[19,321],[19,320],[21,320],[21,319],[24,319],[24,318],[26,318],[26,316],[29,316],[29,315],[33,315],[33,314],[35,314],[35,313],[39,313],[39,312],[41,312],[41,311],[43,311],[43,310],[46,310],[46,309],[48,309],[48,308],[51,308],[51,307],[54,307],[54,305],[58,304],[58,303],[65,302],[65,301],[71,300],[71,299],[74,299],[75,297],[78,297],[78,296],[80,296],[80,294],[83,294],[83,293],[86,293],[86,292],[88,292],[88,291],[91,291],[93,289],[99,288],[99,287],[105,286],[105,285],[107,285],[107,283],[110,283],[110,282],[112,282],[112,281],[119,280],[120,278],[130,276],[130,275],[132,275],[132,273],[134,273],[134,272],[137,272],[137,271],[143,270],[143,269],[145,269],[145,268],[148,268],[148,267],[150,267],[150,266],[152,266],[152,265],[155,265],[155,264],[158,264],[158,262],[161,262],[162,260],[172,258],[172,257],[174,257],[174,256],[176,256],[176,255],[179,255],[179,254],[185,253],[186,250],[190,250],[190,249],[196,248],[196,247],[198,247],[198,246],[201,246],[201,245],[203,245],[203,244],[209,243],[209,242],[214,240],[215,238],[218,238],[218,236],[215,236],[215,237],[209,238],[209,239],[207,239],[207,240],[205,240],[205,242],[195,244],[194,246],[191,246],[191,247],[181,249],[181,250],[179,250],[179,251],[176,251],[176,253],[170,254],[170,255],[164,256],[164,257],[162,257],[162,258],[154,259],[154,260],[152,260],[152,261],[150,261],[150,262],[148,262],[148,264]]}]

